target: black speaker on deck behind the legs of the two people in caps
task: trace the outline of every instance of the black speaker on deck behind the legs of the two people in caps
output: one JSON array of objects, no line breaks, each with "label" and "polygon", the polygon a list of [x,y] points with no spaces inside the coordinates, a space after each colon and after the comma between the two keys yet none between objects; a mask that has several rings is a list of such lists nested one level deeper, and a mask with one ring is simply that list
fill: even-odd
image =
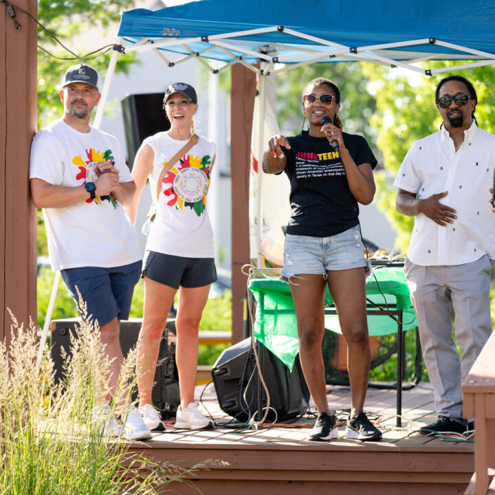
[{"label": "black speaker on deck behind the legs of the two people in caps", "polygon": [[[55,380],[59,382],[63,377],[63,359],[61,349],[70,355],[71,334],[75,335],[78,318],[52,321],[51,356],[54,362]],[[124,357],[137,342],[141,328],[141,320],[131,319],[120,322],[120,347]],[[175,417],[177,407],[180,404],[179,375],[175,364],[175,318],[169,318],[166,323],[164,335],[160,342],[158,365],[155,371],[155,385],[151,393],[153,405],[162,411],[163,419]],[[137,399],[135,393],[133,400]]]}]

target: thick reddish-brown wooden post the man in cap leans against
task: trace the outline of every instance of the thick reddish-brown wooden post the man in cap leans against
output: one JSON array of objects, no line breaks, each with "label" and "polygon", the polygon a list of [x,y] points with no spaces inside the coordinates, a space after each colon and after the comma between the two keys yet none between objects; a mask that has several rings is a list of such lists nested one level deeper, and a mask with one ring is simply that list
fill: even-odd
[{"label": "thick reddish-brown wooden post the man in cap leans against", "polygon": [[12,311],[36,321],[36,210],[29,193],[36,132],[36,0],[16,0],[17,28],[0,3],[0,340],[10,341]]}]

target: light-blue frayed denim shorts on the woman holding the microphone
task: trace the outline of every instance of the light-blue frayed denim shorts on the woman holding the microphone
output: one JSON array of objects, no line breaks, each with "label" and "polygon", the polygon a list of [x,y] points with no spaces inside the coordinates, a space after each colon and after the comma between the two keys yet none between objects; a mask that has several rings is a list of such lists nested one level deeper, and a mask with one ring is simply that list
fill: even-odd
[{"label": "light-blue frayed denim shorts on the woman holding the microphone", "polygon": [[369,267],[359,228],[353,227],[329,237],[287,234],[282,276],[321,274],[327,271]]}]

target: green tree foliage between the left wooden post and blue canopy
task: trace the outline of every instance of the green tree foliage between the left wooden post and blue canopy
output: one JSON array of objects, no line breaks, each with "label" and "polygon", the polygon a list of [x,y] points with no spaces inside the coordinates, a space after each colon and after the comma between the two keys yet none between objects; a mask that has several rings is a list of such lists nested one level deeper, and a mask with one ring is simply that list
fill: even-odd
[{"label": "green tree foliage between the left wooden post and blue canopy", "polygon": [[[111,23],[120,21],[119,12],[132,8],[134,0],[119,2],[106,0],[39,0],[38,20],[51,31],[67,48],[78,56],[86,55],[91,49],[74,46],[74,37],[87,30],[106,32]],[[39,45],[60,58],[72,58],[72,54],[45,32],[38,28]],[[113,41],[112,41],[113,43]],[[100,48],[100,46],[96,47]],[[39,50],[38,53],[38,124],[43,127],[61,117],[63,107],[58,96],[58,86],[61,85],[65,69],[69,65],[87,63],[98,70],[100,84],[107,70],[111,51],[98,58],[80,60],[58,60]],[[127,74],[131,64],[136,61],[135,54],[120,54],[117,72]]]}]

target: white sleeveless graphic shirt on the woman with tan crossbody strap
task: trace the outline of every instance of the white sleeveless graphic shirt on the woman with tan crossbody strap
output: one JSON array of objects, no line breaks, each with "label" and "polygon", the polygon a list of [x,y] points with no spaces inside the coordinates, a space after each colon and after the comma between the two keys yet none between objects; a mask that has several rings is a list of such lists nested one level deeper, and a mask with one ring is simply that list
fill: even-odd
[{"label": "white sleeveless graphic shirt on the woman with tan crossbody strap", "polygon": [[[149,184],[156,201],[162,168],[187,141],[177,141],[161,132],[146,137],[143,143],[151,146],[155,153]],[[197,144],[168,170],[162,181],[157,216],[148,234],[146,250],[188,258],[214,257],[206,193],[215,152],[214,143],[199,137]]]}]

